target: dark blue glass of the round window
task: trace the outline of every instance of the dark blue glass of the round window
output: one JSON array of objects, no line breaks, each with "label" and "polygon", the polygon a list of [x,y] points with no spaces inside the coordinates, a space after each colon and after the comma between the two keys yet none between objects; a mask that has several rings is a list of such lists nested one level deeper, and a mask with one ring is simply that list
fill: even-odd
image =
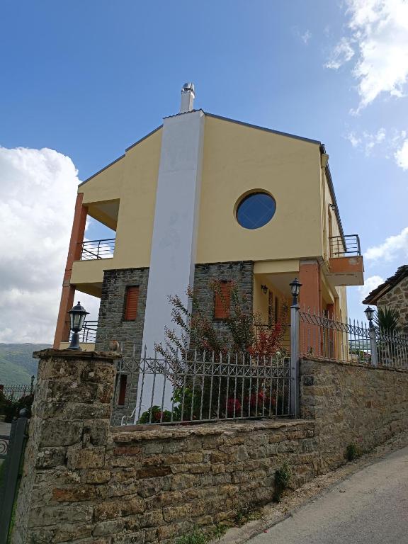
[{"label": "dark blue glass of the round window", "polygon": [[246,229],[259,229],[271,221],[276,210],[275,199],[267,193],[251,193],[237,208],[239,225]]}]

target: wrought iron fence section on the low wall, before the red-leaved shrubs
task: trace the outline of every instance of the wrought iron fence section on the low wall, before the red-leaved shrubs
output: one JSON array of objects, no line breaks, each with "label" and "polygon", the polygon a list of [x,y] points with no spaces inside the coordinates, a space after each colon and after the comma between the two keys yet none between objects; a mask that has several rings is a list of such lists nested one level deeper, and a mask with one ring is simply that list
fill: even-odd
[{"label": "wrought iron fence section on the low wall, before the red-leaved shrubs", "polygon": [[289,358],[193,353],[138,363],[137,402],[122,424],[186,424],[292,415]]}]

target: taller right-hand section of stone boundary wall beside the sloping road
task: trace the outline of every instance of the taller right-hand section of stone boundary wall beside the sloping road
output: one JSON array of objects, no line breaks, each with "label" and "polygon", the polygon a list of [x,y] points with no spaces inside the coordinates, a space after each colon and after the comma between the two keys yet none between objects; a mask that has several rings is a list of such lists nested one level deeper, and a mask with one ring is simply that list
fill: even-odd
[{"label": "taller right-hand section of stone boundary wall beside the sloping road", "polygon": [[339,466],[349,443],[370,450],[408,429],[408,372],[303,360],[300,414],[316,423],[323,465]]}]

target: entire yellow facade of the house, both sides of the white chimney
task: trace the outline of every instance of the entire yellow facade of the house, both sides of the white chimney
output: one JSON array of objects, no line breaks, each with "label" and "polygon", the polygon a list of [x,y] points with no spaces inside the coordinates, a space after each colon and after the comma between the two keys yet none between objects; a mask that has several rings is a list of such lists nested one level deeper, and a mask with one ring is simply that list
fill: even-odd
[{"label": "entire yellow facade of the house, both sides of the white chimney", "polygon": [[[103,271],[148,267],[152,245],[161,128],[79,186],[89,215],[116,230],[113,259],[75,261],[70,283],[100,296]],[[252,191],[276,200],[259,229],[237,222],[237,204]],[[329,236],[341,234],[319,142],[205,115],[197,263],[254,261],[254,309],[265,314],[260,285],[288,300],[302,259],[322,271],[322,307],[346,318],[346,289],[329,280]]]}]

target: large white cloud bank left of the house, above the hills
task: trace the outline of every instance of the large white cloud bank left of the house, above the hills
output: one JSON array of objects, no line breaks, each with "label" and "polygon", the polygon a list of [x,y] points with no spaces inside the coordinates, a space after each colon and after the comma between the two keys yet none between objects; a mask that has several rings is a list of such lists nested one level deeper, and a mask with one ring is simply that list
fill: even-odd
[{"label": "large white cloud bank left of the house, above the hills", "polygon": [[0,341],[52,342],[78,183],[61,153],[0,147]]}]

